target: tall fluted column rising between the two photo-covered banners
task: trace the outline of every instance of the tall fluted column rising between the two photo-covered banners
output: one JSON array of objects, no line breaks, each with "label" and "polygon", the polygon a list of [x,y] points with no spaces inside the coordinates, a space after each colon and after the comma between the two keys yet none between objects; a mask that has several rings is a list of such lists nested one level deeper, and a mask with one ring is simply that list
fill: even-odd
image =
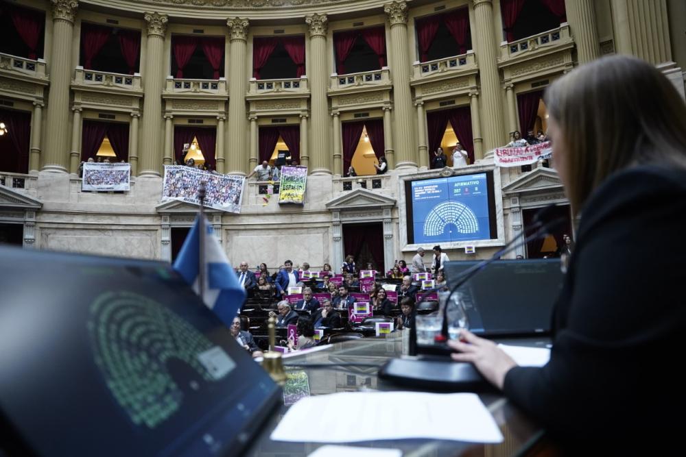
[{"label": "tall fluted column rising between the two photo-covered banners", "polygon": [[141,141],[140,177],[158,177],[162,165],[162,88],[165,82],[163,53],[169,18],[146,12],[147,57],[145,58],[145,97],[143,98],[143,140]]}]

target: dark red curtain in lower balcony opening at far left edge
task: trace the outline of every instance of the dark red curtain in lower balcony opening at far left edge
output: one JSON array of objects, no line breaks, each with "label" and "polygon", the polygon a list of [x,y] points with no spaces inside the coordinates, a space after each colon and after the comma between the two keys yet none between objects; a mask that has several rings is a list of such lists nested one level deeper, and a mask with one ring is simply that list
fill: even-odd
[{"label": "dark red curtain in lower balcony opening at far left edge", "polygon": [[7,125],[9,132],[0,136],[0,171],[28,173],[31,114],[0,110],[0,120]]}]

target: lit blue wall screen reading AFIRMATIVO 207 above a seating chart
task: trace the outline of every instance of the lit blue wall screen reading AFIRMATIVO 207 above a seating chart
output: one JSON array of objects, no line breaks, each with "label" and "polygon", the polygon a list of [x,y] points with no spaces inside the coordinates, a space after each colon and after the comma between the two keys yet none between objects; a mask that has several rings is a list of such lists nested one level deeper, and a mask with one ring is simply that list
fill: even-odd
[{"label": "lit blue wall screen reading AFIRMATIVO 207 above a seating chart", "polygon": [[486,173],[412,182],[414,243],[490,238]]}]

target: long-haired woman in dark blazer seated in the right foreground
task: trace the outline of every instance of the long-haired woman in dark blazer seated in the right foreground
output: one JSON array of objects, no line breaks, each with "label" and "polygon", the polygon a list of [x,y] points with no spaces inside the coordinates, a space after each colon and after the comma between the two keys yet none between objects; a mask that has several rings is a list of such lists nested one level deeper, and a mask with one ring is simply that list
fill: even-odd
[{"label": "long-haired woman in dark blazer seated in the right foreground", "polygon": [[571,70],[544,99],[553,164],[580,217],[549,361],[519,367],[467,331],[452,356],[473,362],[564,455],[683,455],[684,99],[624,55]]}]

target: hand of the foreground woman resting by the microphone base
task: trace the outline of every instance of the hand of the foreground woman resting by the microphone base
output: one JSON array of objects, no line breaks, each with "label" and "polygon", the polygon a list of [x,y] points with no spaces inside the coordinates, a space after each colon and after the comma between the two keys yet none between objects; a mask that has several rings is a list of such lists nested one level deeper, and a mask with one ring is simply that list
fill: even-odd
[{"label": "hand of the foreground woman resting by the microphone base", "polygon": [[460,330],[459,340],[449,340],[448,345],[458,351],[451,354],[458,362],[471,362],[484,378],[497,388],[503,388],[505,375],[517,363],[493,341],[479,338],[469,330]]}]

